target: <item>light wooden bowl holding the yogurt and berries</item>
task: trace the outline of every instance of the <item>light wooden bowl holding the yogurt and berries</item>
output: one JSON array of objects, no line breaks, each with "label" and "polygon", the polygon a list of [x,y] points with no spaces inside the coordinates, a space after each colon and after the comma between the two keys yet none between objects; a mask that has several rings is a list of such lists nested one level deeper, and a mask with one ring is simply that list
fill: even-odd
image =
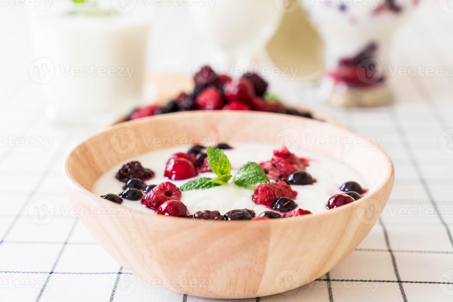
[{"label": "light wooden bowl holding the yogurt and berries", "polygon": [[[290,137],[302,149],[323,153],[359,171],[369,192],[358,201],[320,214],[211,223],[134,211],[90,192],[98,177],[113,166],[159,149],[149,144],[146,138],[150,137],[277,141],[280,145],[281,137]],[[323,143],[332,138],[341,145]],[[319,278],[368,234],[394,182],[390,159],[376,148],[346,129],[296,116],[180,112],[121,123],[87,139],[67,158],[65,184],[74,207],[99,212],[80,217],[96,241],[137,276],[194,296],[260,297]]]}]

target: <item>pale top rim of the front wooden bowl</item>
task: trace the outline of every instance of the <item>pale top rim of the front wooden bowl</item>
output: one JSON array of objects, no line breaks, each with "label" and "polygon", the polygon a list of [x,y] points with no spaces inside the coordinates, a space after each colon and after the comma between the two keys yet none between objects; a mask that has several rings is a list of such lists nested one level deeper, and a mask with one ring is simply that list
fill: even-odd
[{"label": "pale top rim of the front wooden bowl", "polygon": [[[207,115],[207,114],[222,115],[222,114],[228,114],[231,111],[225,111],[225,110],[210,110],[210,111],[197,110],[197,111],[173,112],[173,113],[168,113],[168,114],[165,114],[165,115],[148,116],[148,117],[144,117],[144,118],[140,118],[140,119],[136,119],[136,120],[128,120],[128,121],[125,121],[125,122],[122,122],[122,123],[119,123],[119,124],[116,124],[116,125],[111,125],[111,126],[108,126],[107,128],[101,129],[101,131],[96,132],[95,134],[91,135],[87,139],[84,139],[82,142],[77,144],[77,146],[74,147],[71,150],[70,153],[68,153],[67,158],[65,159],[64,168],[63,168],[63,173],[64,173],[63,177],[65,178],[65,180],[67,180],[66,183],[70,184],[72,187],[74,187],[74,189],[77,189],[78,192],[80,192],[80,193],[82,193],[84,195],[88,195],[90,197],[98,198],[99,202],[101,204],[103,204],[103,205],[105,205],[106,207],[109,207],[109,208],[113,207],[116,210],[122,210],[122,211],[124,211],[126,209],[126,211],[133,211],[134,215],[139,214],[139,215],[147,216],[150,219],[161,219],[162,218],[162,219],[178,219],[178,220],[180,220],[181,217],[157,215],[154,211],[153,212],[150,211],[149,213],[145,212],[145,211],[135,211],[135,209],[133,209],[133,208],[130,208],[130,207],[127,207],[127,206],[123,206],[122,204],[117,204],[115,202],[108,201],[108,200],[105,200],[104,198],[98,197],[93,192],[91,192],[91,191],[87,190],[86,188],[84,188],[81,184],[79,184],[72,177],[71,173],[69,172],[69,164],[70,164],[70,160],[72,158],[72,155],[76,152],[76,150],[79,147],[81,147],[87,141],[89,141],[91,139],[95,139],[98,135],[100,135],[102,133],[111,131],[113,129],[120,129],[120,128],[123,128],[123,127],[125,127],[127,125],[130,125],[132,123],[137,123],[137,124],[138,123],[146,123],[147,120],[152,120],[152,119],[171,119],[174,115],[193,115],[194,112],[197,112],[197,114],[202,114],[202,115]],[[264,111],[232,111],[232,112],[238,113],[238,114],[242,114],[242,115],[245,115],[245,116],[246,115],[250,115],[250,114],[254,114],[254,115],[280,115],[279,113],[264,112]],[[318,124],[318,123],[320,123],[319,125],[328,125],[328,127],[332,127],[332,128],[338,129],[339,131],[342,131],[345,134],[351,134],[354,137],[358,137],[358,138],[360,138],[362,140],[365,139],[363,136],[361,136],[359,134],[356,134],[356,133],[350,131],[349,129],[345,129],[345,128],[342,128],[342,127],[337,126],[337,125],[333,125],[333,124],[330,124],[330,123],[325,123],[325,122],[319,121],[319,120],[308,119],[308,118],[300,117],[300,116],[289,116],[289,117],[290,118],[294,118],[294,119],[304,119],[304,120],[306,120],[306,122],[313,123],[315,125]],[[270,223],[270,221],[272,221],[272,223],[277,223],[278,224],[278,223],[291,222],[294,219],[298,219],[298,220],[300,220],[300,219],[316,219],[316,217],[321,217],[321,216],[323,216],[326,219],[328,219],[328,217],[330,217],[332,215],[340,215],[342,212],[349,211],[349,209],[351,207],[359,206],[361,203],[372,199],[371,197],[373,196],[373,194],[377,194],[377,192],[382,190],[383,187],[386,187],[388,185],[393,186],[394,178],[395,178],[395,169],[394,169],[394,166],[393,166],[393,163],[392,163],[391,159],[389,158],[387,153],[383,149],[381,149],[381,147],[379,147],[378,145],[376,145],[372,141],[369,141],[369,143],[371,144],[371,146],[373,148],[375,148],[373,151],[377,151],[377,152],[379,152],[381,154],[382,159],[383,159],[383,165],[382,166],[386,167],[387,173],[384,176],[382,176],[382,179],[384,179],[384,181],[383,182],[379,182],[378,186],[376,187],[376,189],[374,189],[373,191],[369,191],[369,193],[366,196],[364,196],[364,197],[360,198],[359,200],[357,200],[358,202],[357,201],[351,202],[351,203],[348,203],[346,205],[339,206],[339,207],[337,207],[335,209],[330,209],[328,211],[323,211],[321,213],[313,213],[312,215],[300,215],[300,216],[290,217],[290,218],[287,218],[287,219],[277,219],[276,221],[273,220],[273,219],[265,219],[265,220],[260,220],[259,222],[260,223]],[[339,147],[339,148],[344,148],[344,147]],[[143,153],[140,153],[140,154],[143,154]],[[332,210],[334,210],[334,211],[332,211]],[[162,217],[160,217],[160,216],[162,216]],[[193,219],[186,219],[186,221],[187,221],[187,223],[197,223]],[[216,223],[228,223],[228,224],[231,224],[231,223],[247,223],[248,221],[215,221],[215,222]],[[255,222],[258,222],[258,221],[255,221]]]}]

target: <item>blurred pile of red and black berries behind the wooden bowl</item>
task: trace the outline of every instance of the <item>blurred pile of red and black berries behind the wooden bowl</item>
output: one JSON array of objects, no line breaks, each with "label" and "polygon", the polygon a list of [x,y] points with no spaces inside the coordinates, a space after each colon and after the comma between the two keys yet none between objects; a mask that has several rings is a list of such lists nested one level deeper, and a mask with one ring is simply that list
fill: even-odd
[{"label": "blurred pile of red and black berries behind the wooden bowl", "polygon": [[182,92],[167,104],[148,105],[133,110],[128,120],[188,110],[255,110],[297,115],[313,119],[307,111],[282,105],[267,92],[267,82],[256,73],[247,72],[239,79],[217,75],[210,66],[203,66],[193,77],[192,93]]}]

